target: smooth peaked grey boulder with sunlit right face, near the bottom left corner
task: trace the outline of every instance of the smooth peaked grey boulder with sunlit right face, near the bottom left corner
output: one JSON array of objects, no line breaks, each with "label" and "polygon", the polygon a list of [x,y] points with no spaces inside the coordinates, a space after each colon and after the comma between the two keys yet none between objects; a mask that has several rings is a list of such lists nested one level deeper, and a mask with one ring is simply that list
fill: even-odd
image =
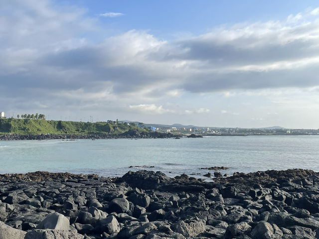
[{"label": "smooth peaked grey boulder with sunlit right face, near the bottom left corner", "polygon": [[36,227],[37,229],[54,229],[54,230],[69,230],[70,222],[59,213],[52,213],[47,216],[40,224]]}]

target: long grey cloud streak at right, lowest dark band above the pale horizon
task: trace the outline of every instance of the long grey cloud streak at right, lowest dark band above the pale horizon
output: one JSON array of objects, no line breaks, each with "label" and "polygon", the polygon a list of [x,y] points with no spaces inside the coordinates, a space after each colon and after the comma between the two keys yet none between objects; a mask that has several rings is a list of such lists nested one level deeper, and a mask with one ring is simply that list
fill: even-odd
[{"label": "long grey cloud streak at right, lowest dark band above the pale horizon", "polygon": [[[306,69],[273,70],[267,72],[234,72],[200,74],[189,77],[183,88],[189,92],[211,92],[319,85],[319,63]],[[199,81],[197,79],[200,79]]]}]

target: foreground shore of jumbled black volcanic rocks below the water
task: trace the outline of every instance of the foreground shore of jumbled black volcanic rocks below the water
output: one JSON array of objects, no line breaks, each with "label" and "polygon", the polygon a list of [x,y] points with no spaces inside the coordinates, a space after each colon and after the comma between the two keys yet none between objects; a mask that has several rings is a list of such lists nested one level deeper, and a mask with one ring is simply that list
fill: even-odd
[{"label": "foreground shore of jumbled black volcanic rocks below the water", "polygon": [[0,239],[318,239],[319,173],[0,175]]}]

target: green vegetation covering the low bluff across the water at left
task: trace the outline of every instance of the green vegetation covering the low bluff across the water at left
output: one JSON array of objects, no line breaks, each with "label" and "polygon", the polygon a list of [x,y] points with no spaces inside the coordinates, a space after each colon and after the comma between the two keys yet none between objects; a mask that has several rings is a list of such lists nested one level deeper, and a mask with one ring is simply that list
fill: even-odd
[{"label": "green vegetation covering the low bluff across the water at left", "polygon": [[[23,116],[24,117],[24,116]],[[77,122],[44,119],[0,119],[0,133],[11,134],[120,134],[130,129],[149,131],[138,127],[136,124],[128,124],[108,120],[107,122]]]}]

